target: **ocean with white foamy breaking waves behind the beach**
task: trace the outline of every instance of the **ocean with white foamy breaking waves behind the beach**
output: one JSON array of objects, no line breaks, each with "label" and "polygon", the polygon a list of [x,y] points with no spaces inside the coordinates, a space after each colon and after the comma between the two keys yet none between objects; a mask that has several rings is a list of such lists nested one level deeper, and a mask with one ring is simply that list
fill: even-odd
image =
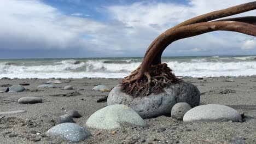
[{"label": "ocean with white foamy breaking waves behind the beach", "polygon": [[[123,78],[143,57],[0,59],[0,78]],[[256,75],[256,56],[162,57],[176,76],[216,77]]]}]

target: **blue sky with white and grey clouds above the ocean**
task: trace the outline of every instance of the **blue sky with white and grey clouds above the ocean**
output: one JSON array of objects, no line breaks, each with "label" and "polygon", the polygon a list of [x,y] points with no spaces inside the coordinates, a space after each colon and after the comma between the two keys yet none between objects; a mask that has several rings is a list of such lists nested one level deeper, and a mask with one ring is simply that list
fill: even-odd
[{"label": "blue sky with white and grey clouds above the ocean", "polygon": [[[0,58],[143,57],[158,35],[178,23],[247,2],[1,0]],[[212,32],[174,41],[162,56],[222,55],[256,55],[256,38]]]}]

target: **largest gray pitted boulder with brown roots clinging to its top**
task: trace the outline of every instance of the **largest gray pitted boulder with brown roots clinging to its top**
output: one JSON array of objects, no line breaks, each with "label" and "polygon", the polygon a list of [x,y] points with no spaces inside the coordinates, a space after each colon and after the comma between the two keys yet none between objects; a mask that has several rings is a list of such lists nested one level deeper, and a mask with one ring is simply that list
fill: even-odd
[{"label": "largest gray pitted boulder with brown roots clinging to its top", "polygon": [[114,87],[108,95],[108,105],[124,104],[135,110],[142,118],[162,115],[170,116],[173,105],[181,102],[195,107],[200,103],[199,90],[188,82],[173,84],[164,89],[164,93],[150,94],[146,97],[131,97],[121,92],[120,85]]}]

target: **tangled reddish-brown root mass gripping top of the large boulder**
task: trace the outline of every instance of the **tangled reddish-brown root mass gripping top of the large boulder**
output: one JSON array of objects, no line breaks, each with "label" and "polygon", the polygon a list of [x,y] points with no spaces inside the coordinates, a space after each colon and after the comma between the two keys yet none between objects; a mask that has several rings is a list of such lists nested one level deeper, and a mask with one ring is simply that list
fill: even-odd
[{"label": "tangled reddish-brown root mass gripping top of the large boulder", "polygon": [[141,73],[139,70],[139,68],[136,69],[121,82],[122,91],[126,94],[135,97],[151,93],[159,94],[172,83],[182,81],[172,73],[172,69],[167,67],[166,63],[152,65],[151,74]]}]

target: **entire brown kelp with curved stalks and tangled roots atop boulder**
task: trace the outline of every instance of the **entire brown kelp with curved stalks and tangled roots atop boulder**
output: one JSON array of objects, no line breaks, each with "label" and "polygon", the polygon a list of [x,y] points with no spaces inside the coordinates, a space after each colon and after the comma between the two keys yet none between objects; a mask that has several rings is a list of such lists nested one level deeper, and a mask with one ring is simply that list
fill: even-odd
[{"label": "entire brown kelp with curved stalks and tangled roots atop boulder", "polygon": [[232,31],[255,37],[256,16],[212,21],[254,9],[256,1],[200,15],[168,29],[150,44],[142,64],[120,83],[122,91],[133,97],[143,97],[151,93],[164,92],[165,87],[181,82],[182,80],[172,73],[166,63],[161,64],[162,52],[173,41],[213,31]]}]

